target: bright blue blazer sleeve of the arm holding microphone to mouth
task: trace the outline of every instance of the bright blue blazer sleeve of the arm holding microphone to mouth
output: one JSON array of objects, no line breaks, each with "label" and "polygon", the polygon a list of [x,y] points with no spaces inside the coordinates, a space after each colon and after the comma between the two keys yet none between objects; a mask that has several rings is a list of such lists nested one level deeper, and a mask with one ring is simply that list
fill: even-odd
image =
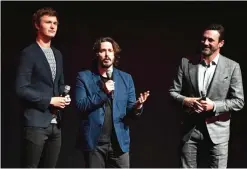
[{"label": "bright blue blazer sleeve of the arm holding microphone to mouth", "polygon": [[109,96],[103,91],[95,91],[91,95],[86,85],[86,75],[78,74],[76,77],[75,102],[79,112],[91,112],[103,106]]}]

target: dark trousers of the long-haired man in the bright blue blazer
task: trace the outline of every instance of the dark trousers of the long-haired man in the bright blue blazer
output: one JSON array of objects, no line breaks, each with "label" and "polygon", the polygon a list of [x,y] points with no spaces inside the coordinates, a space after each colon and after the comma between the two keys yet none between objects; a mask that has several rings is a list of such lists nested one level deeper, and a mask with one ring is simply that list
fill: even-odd
[{"label": "dark trousers of the long-haired man in the bright blue blazer", "polygon": [[129,152],[122,152],[111,143],[99,143],[93,151],[85,151],[86,168],[129,168]]}]

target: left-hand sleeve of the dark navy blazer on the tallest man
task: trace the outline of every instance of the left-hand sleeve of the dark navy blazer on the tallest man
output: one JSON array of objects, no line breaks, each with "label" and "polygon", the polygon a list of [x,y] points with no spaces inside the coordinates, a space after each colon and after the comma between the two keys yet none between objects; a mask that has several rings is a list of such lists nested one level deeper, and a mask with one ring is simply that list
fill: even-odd
[{"label": "left-hand sleeve of the dark navy blazer on the tallest man", "polygon": [[22,52],[17,70],[16,92],[22,100],[31,103],[41,111],[45,111],[50,105],[51,97],[45,96],[42,92],[32,87],[33,67],[33,56],[27,52]]}]

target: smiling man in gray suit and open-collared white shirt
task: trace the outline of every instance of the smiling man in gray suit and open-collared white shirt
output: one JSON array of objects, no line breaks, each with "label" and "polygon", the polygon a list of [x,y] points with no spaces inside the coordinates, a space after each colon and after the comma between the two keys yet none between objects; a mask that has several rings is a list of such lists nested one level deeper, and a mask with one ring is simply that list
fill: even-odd
[{"label": "smiling man in gray suit and open-collared white shirt", "polygon": [[209,25],[196,58],[182,58],[169,89],[183,108],[181,167],[196,168],[206,150],[210,168],[226,168],[231,112],[244,107],[242,74],[237,62],[220,54],[224,27]]}]

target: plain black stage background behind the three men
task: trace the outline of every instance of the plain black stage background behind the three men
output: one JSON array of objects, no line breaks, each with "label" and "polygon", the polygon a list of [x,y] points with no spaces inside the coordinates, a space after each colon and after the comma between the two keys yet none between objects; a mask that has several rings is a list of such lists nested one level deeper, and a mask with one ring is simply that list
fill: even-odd
[{"label": "plain black stage background behind the three men", "polygon": [[[120,69],[133,76],[137,95],[150,90],[142,118],[131,126],[131,167],[178,167],[179,115],[168,88],[181,57],[196,52],[205,26],[223,24],[222,54],[240,63],[246,79],[246,2],[1,2],[1,167],[20,167],[22,112],[15,73],[19,52],[35,40],[32,14],[45,6],[59,13],[52,44],[64,56],[65,81],[72,89],[76,73],[90,66],[95,39],[111,36],[123,49]],[[247,167],[246,118],[246,106],[233,115],[229,167]],[[74,148],[77,129],[72,100],[64,113],[57,167],[84,167]]]}]

